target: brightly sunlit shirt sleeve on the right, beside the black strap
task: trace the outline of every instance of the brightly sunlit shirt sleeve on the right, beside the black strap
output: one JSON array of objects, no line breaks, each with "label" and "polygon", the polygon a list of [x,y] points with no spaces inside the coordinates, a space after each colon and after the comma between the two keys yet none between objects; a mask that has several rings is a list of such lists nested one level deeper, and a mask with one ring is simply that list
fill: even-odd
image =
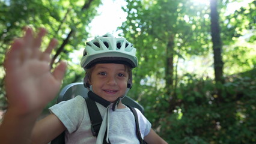
[{"label": "brightly sunlit shirt sleeve on the right, beside the black strap", "polygon": [[139,130],[141,131],[141,137],[143,138],[150,133],[151,123],[148,121],[147,118],[145,118],[145,116],[141,113],[139,109],[136,109],[136,112],[138,113]]}]

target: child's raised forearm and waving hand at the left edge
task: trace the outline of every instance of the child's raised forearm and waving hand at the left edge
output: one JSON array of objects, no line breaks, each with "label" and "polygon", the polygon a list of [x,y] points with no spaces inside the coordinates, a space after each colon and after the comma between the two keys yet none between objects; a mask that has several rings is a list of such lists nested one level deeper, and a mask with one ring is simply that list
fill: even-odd
[{"label": "child's raised forearm and waving hand at the left edge", "polygon": [[32,33],[31,28],[26,28],[25,35],[11,44],[5,58],[8,110],[0,125],[2,143],[30,143],[37,116],[58,93],[67,67],[61,62],[51,73],[50,52],[57,41],[53,39],[41,52],[46,30],[40,29],[35,38]]}]

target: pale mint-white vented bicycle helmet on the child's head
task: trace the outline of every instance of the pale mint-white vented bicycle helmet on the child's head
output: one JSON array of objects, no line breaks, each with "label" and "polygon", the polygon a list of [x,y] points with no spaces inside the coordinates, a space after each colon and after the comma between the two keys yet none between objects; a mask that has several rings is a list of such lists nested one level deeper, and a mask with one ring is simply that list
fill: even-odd
[{"label": "pale mint-white vented bicycle helmet on the child's head", "polygon": [[[126,38],[114,37],[112,34],[105,34],[102,37],[97,36],[94,40],[87,42],[81,59],[81,67],[87,71],[95,64],[107,63],[126,64],[130,68],[137,67],[136,48]],[[86,88],[90,88],[87,75],[84,84]],[[127,88],[132,88],[132,76]]]}]

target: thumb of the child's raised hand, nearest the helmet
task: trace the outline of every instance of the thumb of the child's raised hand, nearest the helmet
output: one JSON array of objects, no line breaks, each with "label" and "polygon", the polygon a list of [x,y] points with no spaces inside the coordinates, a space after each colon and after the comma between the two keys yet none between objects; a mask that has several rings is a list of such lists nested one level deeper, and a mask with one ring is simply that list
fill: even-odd
[{"label": "thumb of the child's raised hand, nearest the helmet", "polygon": [[65,71],[67,68],[67,62],[61,61],[59,65],[53,70],[53,77],[55,77],[56,80],[59,82],[63,79]]}]

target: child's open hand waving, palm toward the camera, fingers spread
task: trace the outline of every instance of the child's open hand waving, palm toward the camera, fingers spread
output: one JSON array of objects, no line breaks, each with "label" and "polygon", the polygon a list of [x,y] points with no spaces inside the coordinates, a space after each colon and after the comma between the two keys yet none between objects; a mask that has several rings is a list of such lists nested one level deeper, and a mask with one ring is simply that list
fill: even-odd
[{"label": "child's open hand waving, palm toward the camera, fingers spread", "polygon": [[33,37],[31,28],[25,35],[13,42],[4,63],[6,77],[5,88],[10,109],[19,114],[40,111],[58,93],[66,70],[61,62],[50,71],[50,52],[57,41],[52,40],[44,52],[40,51],[41,39],[46,30],[41,28],[37,37]]}]

